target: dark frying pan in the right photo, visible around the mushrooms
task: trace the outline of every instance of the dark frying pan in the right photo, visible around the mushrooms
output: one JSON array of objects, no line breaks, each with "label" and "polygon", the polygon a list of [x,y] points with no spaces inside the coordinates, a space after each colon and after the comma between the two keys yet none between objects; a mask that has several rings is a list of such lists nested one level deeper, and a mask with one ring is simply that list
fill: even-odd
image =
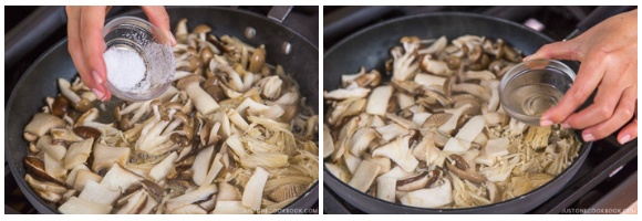
[{"label": "dark frying pan in the right photo, visible around the mushrooms", "polygon": [[[469,13],[431,13],[400,18],[364,29],[334,45],[323,56],[323,90],[339,87],[341,75],[356,73],[361,66],[384,72],[390,49],[398,45],[404,35],[420,39],[437,39],[446,35],[448,40],[474,34],[490,39],[504,39],[525,54],[532,54],[552,40],[529,28],[509,21]],[[567,64],[577,71],[577,63]],[[328,106],[324,106],[324,112]],[[581,137],[581,136],[578,136]],[[578,171],[587,158],[592,143],[582,143],[579,156],[550,182],[524,196],[495,204],[466,209],[424,209],[391,203],[365,194],[339,180],[327,169],[323,181],[343,200],[366,213],[525,213],[541,204],[559,192]]]}]

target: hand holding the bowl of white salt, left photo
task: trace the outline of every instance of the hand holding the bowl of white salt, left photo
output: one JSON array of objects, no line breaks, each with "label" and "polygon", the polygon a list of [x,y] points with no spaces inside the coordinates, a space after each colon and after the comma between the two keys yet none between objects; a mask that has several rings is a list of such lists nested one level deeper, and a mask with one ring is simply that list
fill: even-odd
[{"label": "hand holding the bowl of white salt, left photo", "polygon": [[[164,7],[141,7],[149,22],[169,36],[170,44],[176,40],[169,29],[169,17]],[[69,52],[83,83],[96,97],[108,101],[112,94],[105,88],[107,70],[103,53],[106,50],[102,31],[107,7],[66,7]]]}]

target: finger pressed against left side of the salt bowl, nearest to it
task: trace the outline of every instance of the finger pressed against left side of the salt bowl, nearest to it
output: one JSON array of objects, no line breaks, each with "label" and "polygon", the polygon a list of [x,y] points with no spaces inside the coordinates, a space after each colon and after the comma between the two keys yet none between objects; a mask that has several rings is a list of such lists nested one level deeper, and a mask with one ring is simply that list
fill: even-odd
[{"label": "finger pressed against left side of the salt bowl, nearest to it", "polygon": [[80,18],[84,61],[89,65],[89,72],[95,83],[92,91],[101,101],[107,101],[111,96],[104,84],[107,76],[105,61],[103,60],[106,45],[102,35],[105,9],[105,7],[85,7],[82,9]]}]

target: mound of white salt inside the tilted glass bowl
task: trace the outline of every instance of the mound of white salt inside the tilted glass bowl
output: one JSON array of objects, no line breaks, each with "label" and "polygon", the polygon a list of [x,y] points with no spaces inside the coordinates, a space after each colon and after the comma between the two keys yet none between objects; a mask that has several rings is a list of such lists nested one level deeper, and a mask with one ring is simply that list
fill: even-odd
[{"label": "mound of white salt inside the tilted glass bowl", "polygon": [[103,59],[107,65],[107,80],[116,90],[135,94],[149,90],[149,83],[145,81],[145,62],[136,51],[112,46]]}]

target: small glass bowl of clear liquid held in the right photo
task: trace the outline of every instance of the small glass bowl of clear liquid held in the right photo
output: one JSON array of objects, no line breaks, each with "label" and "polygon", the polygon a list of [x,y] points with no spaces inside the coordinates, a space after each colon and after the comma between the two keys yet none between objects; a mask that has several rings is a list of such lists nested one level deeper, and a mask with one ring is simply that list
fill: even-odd
[{"label": "small glass bowl of clear liquid held in the right photo", "polygon": [[539,118],[556,106],[576,80],[576,73],[555,60],[531,60],[510,69],[499,84],[499,101],[512,118],[539,126]]}]

